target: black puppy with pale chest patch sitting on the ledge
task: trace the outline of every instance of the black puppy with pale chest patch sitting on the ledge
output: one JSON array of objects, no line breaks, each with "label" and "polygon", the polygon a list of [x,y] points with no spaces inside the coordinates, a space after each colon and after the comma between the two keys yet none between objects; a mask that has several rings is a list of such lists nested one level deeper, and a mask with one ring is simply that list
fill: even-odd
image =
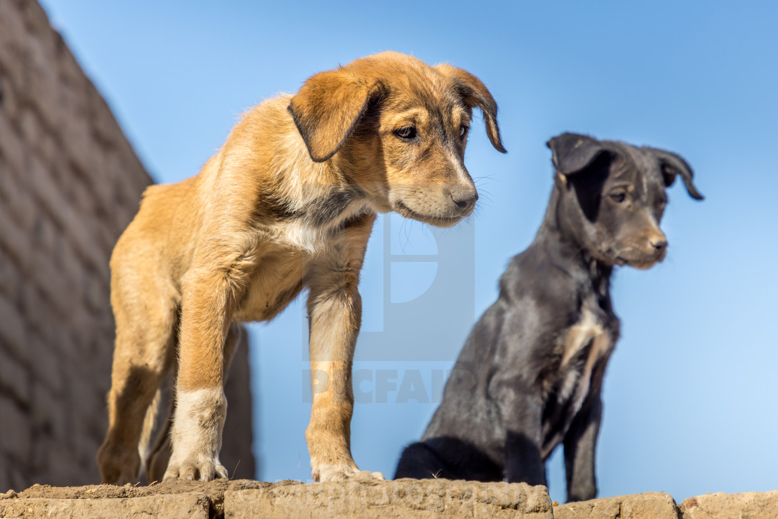
[{"label": "black puppy with pale chest patch sitting on the ledge", "polygon": [[659,221],[677,175],[703,197],[674,153],[569,133],[548,147],[555,185],[538,236],[510,262],[395,478],[545,485],[545,460],[563,443],[568,500],[597,495],[600,393],[619,338],[612,270],[664,259]]}]

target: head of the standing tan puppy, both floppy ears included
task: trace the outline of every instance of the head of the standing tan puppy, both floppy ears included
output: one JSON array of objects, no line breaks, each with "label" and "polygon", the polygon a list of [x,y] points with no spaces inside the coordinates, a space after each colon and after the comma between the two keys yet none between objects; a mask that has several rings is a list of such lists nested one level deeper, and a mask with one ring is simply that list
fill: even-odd
[{"label": "head of the standing tan puppy, both floppy ears included", "polygon": [[289,111],[311,159],[332,160],[374,209],[451,226],[478,200],[464,167],[474,107],[505,153],[497,105],[478,78],[384,52],[312,76]]}]

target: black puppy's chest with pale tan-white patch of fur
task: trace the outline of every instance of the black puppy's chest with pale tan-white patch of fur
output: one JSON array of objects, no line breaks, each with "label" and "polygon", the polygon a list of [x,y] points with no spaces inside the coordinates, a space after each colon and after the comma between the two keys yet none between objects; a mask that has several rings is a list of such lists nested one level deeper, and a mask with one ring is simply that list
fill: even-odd
[{"label": "black puppy's chest with pale tan-white patch of fur", "polygon": [[580,307],[577,321],[559,335],[561,357],[545,385],[543,458],[561,443],[587,396],[598,391],[618,338],[619,321],[596,302]]}]

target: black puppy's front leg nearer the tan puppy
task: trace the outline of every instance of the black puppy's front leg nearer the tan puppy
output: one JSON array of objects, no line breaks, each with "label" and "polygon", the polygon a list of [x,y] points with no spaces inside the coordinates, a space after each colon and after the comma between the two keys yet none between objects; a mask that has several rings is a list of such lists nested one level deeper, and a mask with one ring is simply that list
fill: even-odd
[{"label": "black puppy's front leg nearer the tan puppy", "polygon": [[505,438],[505,476],[508,482],[545,485],[545,463],[541,458],[540,395],[503,387],[499,395]]}]

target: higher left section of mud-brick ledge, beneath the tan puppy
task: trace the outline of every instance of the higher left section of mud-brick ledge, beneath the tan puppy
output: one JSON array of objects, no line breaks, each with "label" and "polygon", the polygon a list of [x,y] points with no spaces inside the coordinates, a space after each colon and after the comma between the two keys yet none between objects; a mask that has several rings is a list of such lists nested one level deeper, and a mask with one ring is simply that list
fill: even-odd
[{"label": "higher left section of mud-brick ledge, beneath the tan puppy", "polygon": [[552,519],[545,486],[400,479],[303,484],[250,480],[151,486],[35,485],[0,517],[532,517]]}]

